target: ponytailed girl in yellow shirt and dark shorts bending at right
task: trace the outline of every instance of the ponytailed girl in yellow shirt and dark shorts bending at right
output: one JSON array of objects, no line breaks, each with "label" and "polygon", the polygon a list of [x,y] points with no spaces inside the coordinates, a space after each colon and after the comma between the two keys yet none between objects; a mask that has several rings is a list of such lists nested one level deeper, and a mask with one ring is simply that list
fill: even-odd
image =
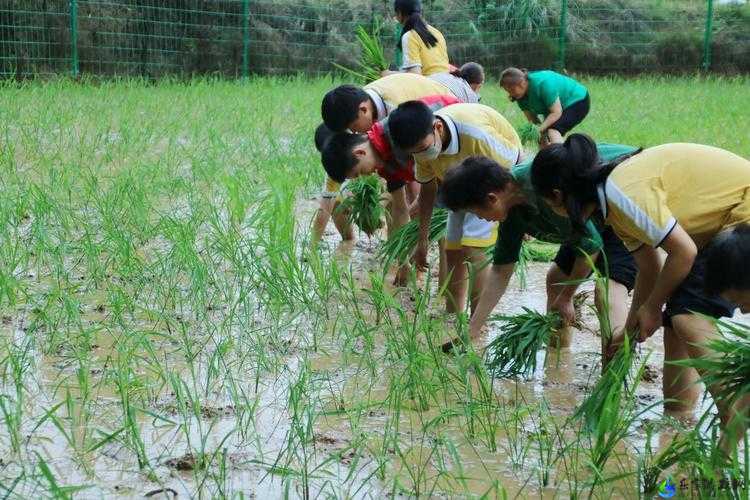
[{"label": "ponytailed girl in yellow shirt and dark shorts bending at right", "polygon": [[[638,274],[626,331],[644,341],[664,326],[665,409],[692,413],[698,374],[670,362],[711,355],[705,342],[716,332],[705,316],[736,309],[706,292],[704,249],[721,231],[750,221],[750,161],[701,144],[664,144],[611,163],[596,151],[581,134],[541,150],[534,189],[574,226],[599,212],[633,253]],[[663,263],[657,248],[667,253]],[[722,388],[708,389],[716,401]],[[734,417],[744,408],[717,406],[727,445],[742,435],[736,432],[744,423]]]}]

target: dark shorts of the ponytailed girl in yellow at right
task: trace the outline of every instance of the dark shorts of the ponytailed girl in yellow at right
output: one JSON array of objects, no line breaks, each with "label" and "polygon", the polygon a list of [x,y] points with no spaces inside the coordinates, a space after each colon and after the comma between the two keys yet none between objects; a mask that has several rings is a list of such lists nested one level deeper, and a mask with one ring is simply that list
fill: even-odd
[{"label": "dark shorts of the ponytailed girl in yellow at right", "polygon": [[672,316],[678,314],[700,313],[712,318],[731,317],[736,304],[722,299],[718,295],[708,295],[703,291],[703,275],[706,268],[706,253],[698,252],[693,267],[685,280],[667,300],[664,308],[664,326],[672,326]]}]

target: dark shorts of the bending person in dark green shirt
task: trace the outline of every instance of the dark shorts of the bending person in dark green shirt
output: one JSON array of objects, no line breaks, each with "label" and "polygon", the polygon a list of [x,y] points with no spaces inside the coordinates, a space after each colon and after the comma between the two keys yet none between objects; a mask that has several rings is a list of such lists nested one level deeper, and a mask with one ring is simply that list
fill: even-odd
[{"label": "dark shorts of the bending person in dark green shirt", "polygon": [[[602,276],[608,276],[612,281],[625,286],[628,291],[632,290],[635,286],[635,275],[638,272],[635,259],[611,227],[602,231],[602,240],[604,246],[594,263],[596,270]],[[560,245],[560,250],[557,252],[554,262],[562,272],[570,274],[573,271],[576,258],[580,255],[581,252],[577,248],[570,245]]]}]

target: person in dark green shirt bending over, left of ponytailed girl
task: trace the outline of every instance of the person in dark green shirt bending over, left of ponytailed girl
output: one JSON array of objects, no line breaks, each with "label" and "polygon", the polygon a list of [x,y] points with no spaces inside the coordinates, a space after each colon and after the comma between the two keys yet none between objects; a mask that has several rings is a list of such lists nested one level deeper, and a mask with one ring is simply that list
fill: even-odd
[{"label": "person in dark green shirt bending over, left of ponytailed girl", "polygon": [[[599,144],[597,149],[603,159],[615,159],[636,151],[630,146],[614,144]],[[479,340],[487,317],[505,293],[525,235],[561,243],[547,273],[547,309],[557,311],[566,325],[574,322],[573,295],[577,282],[591,274],[590,262],[595,262],[601,275],[609,277],[606,295],[602,287],[597,287],[595,301],[600,312],[608,305],[606,313],[613,337],[617,337],[627,319],[628,293],[633,289],[637,272],[635,261],[614,231],[604,227],[601,221],[589,220],[585,231],[577,233],[570,219],[556,214],[534,192],[532,161],[533,158],[529,158],[508,172],[497,168],[489,158],[470,157],[450,170],[440,186],[440,199],[449,209],[468,210],[484,219],[501,222],[490,276],[471,317],[471,339]],[[569,334],[567,338],[556,339],[561,347],[569,346],[570,340]],[[444,350],[450,350],[459,342],[446,343]],[[602,345],[603,355],[608,354],[609,347]]]}]

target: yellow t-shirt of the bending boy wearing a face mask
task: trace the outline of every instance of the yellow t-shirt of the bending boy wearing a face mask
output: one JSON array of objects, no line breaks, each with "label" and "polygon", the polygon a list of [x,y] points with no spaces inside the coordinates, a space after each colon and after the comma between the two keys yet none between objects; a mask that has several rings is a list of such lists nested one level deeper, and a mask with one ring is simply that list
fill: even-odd
[{"label": "yellow t-shirt of the bending boy wearing a face mask", "polygon": [[442,180],[445,173],[469,156],[486,156],[510,170],[518,163],[521,139],[503,115],[484,104],[454,104],[435,112],[450,132],[450,143],[435,160],[418,162],[415,177],[425,183]]}]

